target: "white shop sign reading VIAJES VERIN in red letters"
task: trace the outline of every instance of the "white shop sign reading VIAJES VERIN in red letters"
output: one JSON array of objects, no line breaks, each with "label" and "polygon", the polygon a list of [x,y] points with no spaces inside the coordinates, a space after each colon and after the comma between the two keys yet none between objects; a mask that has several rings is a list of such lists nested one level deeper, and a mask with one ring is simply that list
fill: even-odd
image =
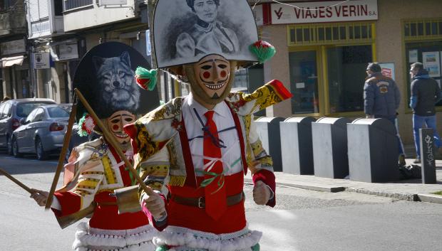
[{"label": "white shop sign reading VIAJES VERIN in red letters", "polygon": [[377,0],[309,1],[287,4],[271,5],[272,24],[378,19]]}]

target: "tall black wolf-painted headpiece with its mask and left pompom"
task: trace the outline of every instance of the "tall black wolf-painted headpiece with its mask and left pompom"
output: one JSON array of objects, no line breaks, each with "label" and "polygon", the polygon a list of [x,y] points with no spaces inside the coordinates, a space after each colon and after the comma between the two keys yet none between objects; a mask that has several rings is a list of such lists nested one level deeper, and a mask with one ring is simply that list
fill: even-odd
[{"label": "tall black wolf-painted headpiece with its mask and left pompom", "polygon": [[[108,129],[118,141],[127,137],[123,125],[160,105],[158,90],[144,90],[135,80],[135,68],[150,68],[148,61],[124,43],[108,42],[93,47],[81,59],[73,78],[98,118],[107,119]],[[78,103],[77,122],[82,134],[88,134],[94,122],[86,108]]]}]

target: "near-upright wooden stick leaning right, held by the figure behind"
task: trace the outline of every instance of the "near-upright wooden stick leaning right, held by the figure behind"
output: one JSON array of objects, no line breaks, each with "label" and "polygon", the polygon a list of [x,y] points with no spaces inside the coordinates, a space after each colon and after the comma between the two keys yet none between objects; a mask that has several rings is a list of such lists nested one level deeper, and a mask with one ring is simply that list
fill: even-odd
[{"label": "near-upright wooden stick leaning right, held by the figure behind", "polygon": [[66,151],[69,147],[69,141],[71,141],[71,134],[72,134],[72,126],[73,122],[75,122],[75,116],[77,112],[77,99],[76,95],[73,95],[73,104],[72,104],[72,110],[71,114],[69,115],[69,121],[68,121],[68,129],[66,130],[66,134],[64,135],[63,139],[63,147],[61,148],[60,156],[58,157],[58,164],[55,176],[53,176],[53,181],[51,185],[51,190],[49,190],[48,200],[46,201],[46,205],[44,208],[48,210],[51,208],[52,200],[53,200],[53,193],[55,192],[55,188],[58,183],[58,178],[60,178],[61,169],[63,169],[64,166],[64,159],[66,158]]}]

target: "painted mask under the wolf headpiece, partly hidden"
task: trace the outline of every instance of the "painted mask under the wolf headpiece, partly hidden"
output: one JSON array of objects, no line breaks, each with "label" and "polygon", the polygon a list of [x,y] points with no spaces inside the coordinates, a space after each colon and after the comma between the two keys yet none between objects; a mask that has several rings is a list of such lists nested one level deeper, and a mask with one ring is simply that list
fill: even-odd
[{"label": "painted mask under the wolf headpiece, partly hidden", "polygon": [[135,115],[128,111],[114,112],[111,117],[106,119],[108,129],[115,135],[118,143],[125,144],[130,141],[130,137],[123,130],[126,124],[135,122]]}]

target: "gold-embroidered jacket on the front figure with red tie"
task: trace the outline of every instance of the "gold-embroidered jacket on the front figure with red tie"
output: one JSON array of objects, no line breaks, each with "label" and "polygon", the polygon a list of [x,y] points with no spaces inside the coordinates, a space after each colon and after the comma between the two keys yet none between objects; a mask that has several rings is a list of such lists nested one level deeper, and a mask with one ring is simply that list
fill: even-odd
[{"label": "gold-embroidered jacket on the front figure with red tie", "polygon": [[[242,149],[244,174],[252,161],[259,161],[259,168],[253,169],[253,180],[263,181],[274,191],[272,159],[262,148],[255,130],[250,129],[252,114],[292,95],[281,82],[272,80],[250,95],[231,93],[225,100],[232,111]],[[190,153],[185,135],[181,107],[183,97],[177,97],[125,127],[133,139],[134,167],[145,183],[154,190],[168,195],[168,186],[189,186],[197,188],[195,171],[189,163]],[[140,191],[142,192],[142,191]],[[140,194],[142,198],[143,193]],[[274,198],[267,205],[274,206]]]}]

